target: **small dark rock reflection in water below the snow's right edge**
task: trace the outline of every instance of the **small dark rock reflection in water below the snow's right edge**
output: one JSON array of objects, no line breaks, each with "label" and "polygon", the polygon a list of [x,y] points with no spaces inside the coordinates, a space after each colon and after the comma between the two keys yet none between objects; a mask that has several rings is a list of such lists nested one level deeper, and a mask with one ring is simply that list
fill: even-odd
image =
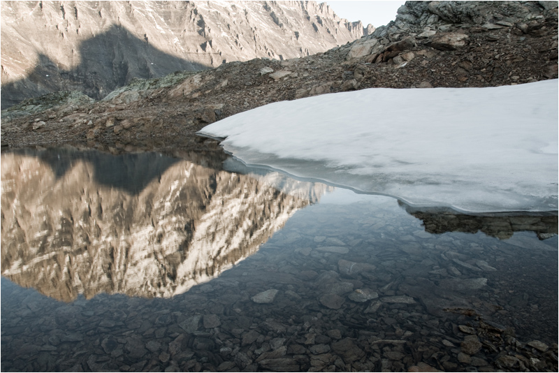
[{"label": "small dark rock reflection in water below the snow's right edge", "polygon": [[415,208],[398,201],[405,210],[423,221],[428,233],[481,231],[491,237],[506,240],[514,232],[532,231],[540,240],[558,233],[557,214],[500,213],[485,215],[460,214],[453,210]]}]

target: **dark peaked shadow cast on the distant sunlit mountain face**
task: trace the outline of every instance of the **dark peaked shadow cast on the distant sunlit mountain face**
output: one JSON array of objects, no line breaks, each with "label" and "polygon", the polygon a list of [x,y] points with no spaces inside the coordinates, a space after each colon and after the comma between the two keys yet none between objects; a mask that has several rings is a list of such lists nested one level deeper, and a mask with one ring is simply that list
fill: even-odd
[{"label": "dark peaked shadow cast on the distant sunlit mountain face", "polygon": [[80,64],[66,70],[39,54],[36,67],[27,77],[2,85],[1,109],[61,90],[80,91],[99,100],[131,78],[159,78],[174,71],[210,67],[162,52],[118,25],[80,43],[77,55]]}]

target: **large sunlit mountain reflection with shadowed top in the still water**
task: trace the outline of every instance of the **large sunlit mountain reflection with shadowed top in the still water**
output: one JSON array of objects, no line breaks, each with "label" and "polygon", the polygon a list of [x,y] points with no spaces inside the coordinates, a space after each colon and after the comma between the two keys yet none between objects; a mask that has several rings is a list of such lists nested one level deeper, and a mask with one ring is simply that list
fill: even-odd
[{"label": "large sunlit mountain reflection with shadowed top in the still water", "polygon": [[[223,156],[66,151],[57,159],[1,156],[1,273],[65,301],[187,291],[253,254],[324,192],[296,182],[283,193],[271,186],[279,175],[220,170]],[[112,180],[118,173],[142,188]]]}]

